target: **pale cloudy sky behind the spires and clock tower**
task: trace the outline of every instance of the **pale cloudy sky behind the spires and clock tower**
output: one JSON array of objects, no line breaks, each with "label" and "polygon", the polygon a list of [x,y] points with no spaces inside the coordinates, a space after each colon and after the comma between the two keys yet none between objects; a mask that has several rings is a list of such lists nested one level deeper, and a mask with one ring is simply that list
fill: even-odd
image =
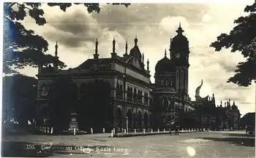
[{"label": "pale cloudy sky behind the spires and clock tower", "polygon": [[[46,25],[36,25],[31,17],[26,17],[22,23],[48,41],[48,54],[54,54],[54,45],[58,41],[59,58],[67,68],[75,68],[93,58],[96,39],[99,41],[99,58],[110,58],[113,37],[116,39],[116,52],[122,56],[126,40],[131,49],[137,36],[140,51],[150,62],[153,83],[154,67],[164,57],[165,49],[169,49],[170,38],[176,36],[176,29],[181,23],[190,47],[190,98],[195,100],[195,89],[203,79],[201,97],[214,93],[217,105],[220,100],[224,102],[230,98],[232,104],[235,100],[241,114],[255,111],[254,84],[238,87],[226,83],[234,75],[238,62],[245,60],[241,53],[230,50],[215,52],[209,47],[220,33],[232,30],[233,20],[244,15],[246,4],[132,4],[128,8],[100,4],[100,7],[99,14],[89,14],[82,5],[69,7],[66,12],[59,7],[43,5]],[[34,76],[37,69],[28,67],[20,72]]]}]

